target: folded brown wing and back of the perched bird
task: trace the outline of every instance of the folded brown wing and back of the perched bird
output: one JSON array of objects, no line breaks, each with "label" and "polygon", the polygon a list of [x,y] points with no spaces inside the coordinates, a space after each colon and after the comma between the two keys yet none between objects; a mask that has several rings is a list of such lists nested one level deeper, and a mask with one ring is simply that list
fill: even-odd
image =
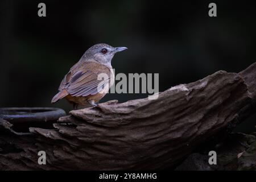
[{"label": "folded brown wing and back of the perched bird", "polygon": [[69,72],[60,84],[60,89],[65,89],[71,96],[94,95],[104,89],[105,84],[109,84],[108,79],[98,80],[98,74],[106,73],[109,69],[101,64],[89,62],[80,66],[81,69]]}]

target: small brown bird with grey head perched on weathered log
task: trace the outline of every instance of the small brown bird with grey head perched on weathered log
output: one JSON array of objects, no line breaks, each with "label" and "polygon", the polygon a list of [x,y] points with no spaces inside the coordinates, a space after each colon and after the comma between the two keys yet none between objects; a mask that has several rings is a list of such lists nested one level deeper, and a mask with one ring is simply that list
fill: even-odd
[{"label": "small brown bird with grey head perched on weathered log", "polygon": [[[78,106],[96,106],[114,83],[112,58],[115,53],[125,49],[127,48],[108,44],[90,47],[65,75],[60,83],[59,93],[52,98],[52,103],[65,98],[73,104],[74,109]],[[99,78],[101,74],[107,75],[108,79]]]}]

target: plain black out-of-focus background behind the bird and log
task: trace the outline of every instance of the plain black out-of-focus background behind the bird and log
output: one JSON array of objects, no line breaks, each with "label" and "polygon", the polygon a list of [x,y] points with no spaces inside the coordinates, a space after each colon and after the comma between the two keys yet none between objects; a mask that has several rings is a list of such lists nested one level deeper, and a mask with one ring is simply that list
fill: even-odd
[{"label": "plain black out-of-focus background behind the bird and log", "polygon": [[[38,3],[46,3],[45,18]],[[208,16],[210,2],[217,17]],[[90,46],[129,49],[115,73],[159,73],[159,90],[256,60],[255,1],[1,1],[0,107],[51,105],[60,81]],[[147,94],[108,94],[124,102]],[[238,131],[255,131],[256,116]]]}]

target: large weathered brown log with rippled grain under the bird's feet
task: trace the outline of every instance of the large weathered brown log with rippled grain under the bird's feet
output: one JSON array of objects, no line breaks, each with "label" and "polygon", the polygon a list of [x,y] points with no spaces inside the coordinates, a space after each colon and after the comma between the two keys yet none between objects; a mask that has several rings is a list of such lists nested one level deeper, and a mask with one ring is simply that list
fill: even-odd
[{"label": "large weathered brown log with rippled grain under the bird's feet", "polygon": [[[53,124],[20,135],[0,122],[0,169],[164,169],[175,166],[219,131],[256,112],[256,64],[122,104],[72,110]],[[46,151],[47,164],[38,164]]]}]

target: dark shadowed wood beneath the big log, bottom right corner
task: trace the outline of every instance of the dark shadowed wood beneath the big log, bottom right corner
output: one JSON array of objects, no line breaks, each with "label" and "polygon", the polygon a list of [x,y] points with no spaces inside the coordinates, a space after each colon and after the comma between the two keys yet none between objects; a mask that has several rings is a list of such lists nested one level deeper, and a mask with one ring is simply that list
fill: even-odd
[{"label": "dark shadowed wood beneath the big log, bottom right corner", "polygon": [[177,171],[255,171],[256,170],[256,133],[232,133],[229,137],[214,144],[210,150],[217,153],[215,165],[209,164],[209,148],[201,148],[192,153],[175,170]]}]

